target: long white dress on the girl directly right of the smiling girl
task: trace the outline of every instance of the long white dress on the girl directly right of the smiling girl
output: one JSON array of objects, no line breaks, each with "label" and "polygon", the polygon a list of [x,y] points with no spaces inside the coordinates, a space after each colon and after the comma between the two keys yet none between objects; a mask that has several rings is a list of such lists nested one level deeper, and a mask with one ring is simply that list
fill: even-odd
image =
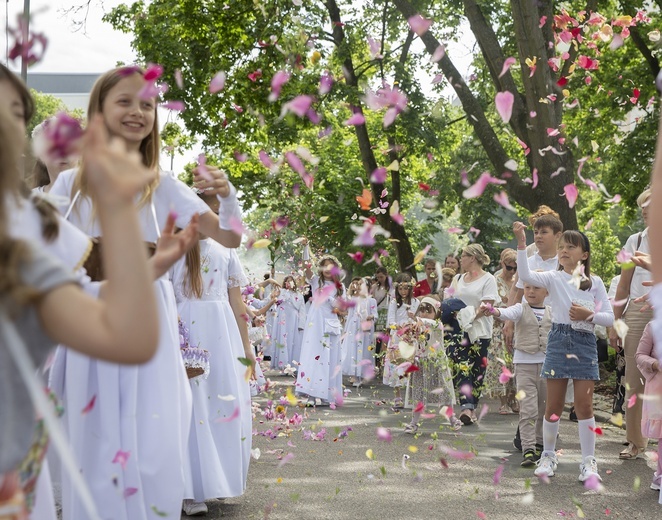
[{"label": "long white dress on the girl directly right of the smiling girl", "polygon": [[252,442],[251,395],[245,357],[228,289],[248,281],[236,256],[211,239],[200,241],[201,299],[183,293],[185,259],[173,267],[179,317],[191,346],[209,351],[209,376],[190,380],[193,417],[185,466],[185,498],[202,502],[244,493]]}]

